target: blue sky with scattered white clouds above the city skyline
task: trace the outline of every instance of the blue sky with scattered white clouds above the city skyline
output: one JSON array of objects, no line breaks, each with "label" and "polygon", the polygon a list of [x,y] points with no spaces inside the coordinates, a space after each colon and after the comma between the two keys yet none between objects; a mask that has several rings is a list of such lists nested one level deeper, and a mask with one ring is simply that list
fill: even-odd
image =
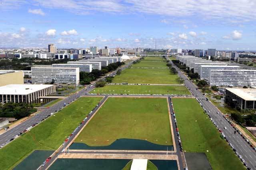
[{"label": "blue sky with scattered white clouds above the city skyline", "polygon": [[256,50],[255,0],[0,0],[0,47]]}]

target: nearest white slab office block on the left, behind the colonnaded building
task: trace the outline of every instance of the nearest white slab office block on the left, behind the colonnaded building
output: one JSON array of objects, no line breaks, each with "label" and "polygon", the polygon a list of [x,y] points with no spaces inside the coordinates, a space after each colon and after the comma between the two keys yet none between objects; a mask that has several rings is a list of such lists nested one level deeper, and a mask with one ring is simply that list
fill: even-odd
[{"label": "nearest white slab office block on the left, behind the colonnaded building", "polygon": [[79,68],[70,67],[31,67],[32,83],[79,83]]}]

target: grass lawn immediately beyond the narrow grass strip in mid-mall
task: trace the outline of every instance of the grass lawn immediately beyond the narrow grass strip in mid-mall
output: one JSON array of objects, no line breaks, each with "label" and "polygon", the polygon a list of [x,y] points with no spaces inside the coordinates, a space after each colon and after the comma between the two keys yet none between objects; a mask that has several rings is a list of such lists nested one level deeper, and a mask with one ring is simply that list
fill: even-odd
[{"label": "grass lawn immediately beyond the narrow grass strip in mid-mall", "polygon": [[170,69],[125,69],[112,83],[178,84]]}]

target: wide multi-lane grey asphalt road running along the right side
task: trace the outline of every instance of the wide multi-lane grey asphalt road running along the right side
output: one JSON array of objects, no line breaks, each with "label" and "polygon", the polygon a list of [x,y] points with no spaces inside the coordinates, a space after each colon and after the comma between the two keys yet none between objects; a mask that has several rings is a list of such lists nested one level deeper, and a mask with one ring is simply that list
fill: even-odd
[{"label": "wide multi-lane grey asphalt road running along the right side", "polygon": [[[170,61],[170,63],[172,63],[172,61]],[[210,111],[209,115],[216,122],[218,128],[220,128],[222,132],[226,135],[227,139],[234,146],[237,152],[242,156],[248,167],[252,168],[253,170],[256,170],[255,150],[253,150],[252,147],[250,147],[250,145],[242,138],[240,134],[234,134],[234,128],[228,123],[228,121],[226,121],[226,119],[223,117],[223,115],[217,109],[217,107],[215,107],[209,101],[206,101],[206,97],[199,90],[196,89],[196,86],[192,82],[188,81],[188,78],[178,69],[178,67],[176,67],[175,65],[174,67],[178,71],[179,77],[182,77],[185,80],[184,83],[186,87],[189,88],[190,92],[197,99],[200,99],[199,102],[202,104],[202,107],[204,107],[206,111]],[[217,112],[220,114],[217,114]],[[226,127],[227,129],[224,129],[224,127]]]}]

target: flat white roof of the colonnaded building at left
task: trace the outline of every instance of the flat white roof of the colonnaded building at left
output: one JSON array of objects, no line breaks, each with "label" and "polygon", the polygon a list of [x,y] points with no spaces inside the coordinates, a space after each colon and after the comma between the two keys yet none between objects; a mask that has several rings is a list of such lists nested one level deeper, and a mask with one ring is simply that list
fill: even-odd
[{"label": "flat white roof of the colonnaded building at left", "polygon": [[30,93],[45,89],[47,87],[51,87],[54,85],[5,85],[0,87],[0,95],[28,95]]}]

